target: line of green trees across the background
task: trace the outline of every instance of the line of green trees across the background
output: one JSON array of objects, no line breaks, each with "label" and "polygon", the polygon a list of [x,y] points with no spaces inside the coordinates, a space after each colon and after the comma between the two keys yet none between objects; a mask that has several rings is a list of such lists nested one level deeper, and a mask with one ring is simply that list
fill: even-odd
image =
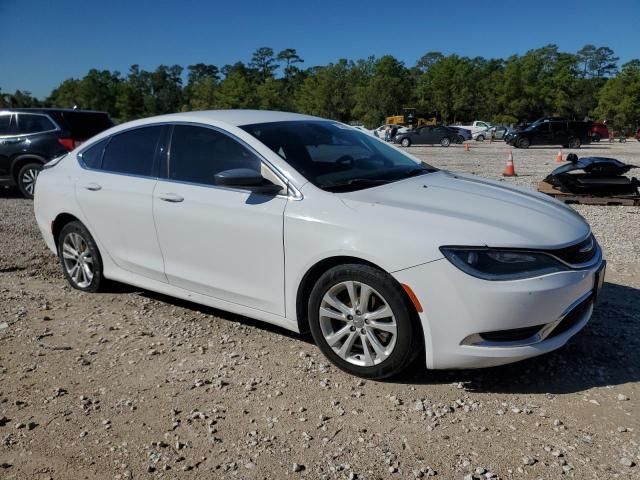
[{"label": "line of green trees across the background", "polygon": [[506,59],[428,52],[408,67],[390,55],[340,59],[304,68],[293,48],[258,48],[247,63],[132,65],[126,74],[90,70],[44,100],[0,91],[0,107],[74,106],[104,110],[117,121],[164,113],[258,108],[302,112],[342,122],[380,125],[415,107],[444,123],[476,119],[517,123],[545,115],[606,119],[631,132],[640,127],[640,60],[618,66],[608,47],[576,53],[546,45]]}]

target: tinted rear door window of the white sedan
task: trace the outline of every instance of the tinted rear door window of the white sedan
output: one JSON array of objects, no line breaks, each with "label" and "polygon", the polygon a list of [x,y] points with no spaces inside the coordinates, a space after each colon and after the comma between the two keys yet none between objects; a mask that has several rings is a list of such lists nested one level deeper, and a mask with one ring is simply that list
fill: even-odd
[{"label": "tinted rear door window of the white sedan", "polygon": [[102,169],[126,175],[153,176],[162,126],[141,127],[111,137],[102,158]]}]

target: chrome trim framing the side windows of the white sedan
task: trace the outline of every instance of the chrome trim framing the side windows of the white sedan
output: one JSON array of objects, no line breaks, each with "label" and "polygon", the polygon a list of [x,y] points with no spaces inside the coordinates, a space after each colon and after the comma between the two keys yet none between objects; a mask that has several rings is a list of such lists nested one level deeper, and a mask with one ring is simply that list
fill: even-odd
[{"label": "chrome trim framing the side windows of the white sedan", "polygon": [[[275,165],[273,165],[273,163],[271,163],[268,159],[266,159],[262,154],[260,154],[259,152],[257,152],[251,145],[249,145],[247,142],[245,142],[244,140],[242,140],[241,138],[239,138],[238,136],[234,135],[233,133],[224,130],[220,127],[216,127],[214,125],[209,125],[206,123],[198,123],[198,122],[158,122],[158,123],[148,123],[145,125],[136,125],[135,127],[130,127],[124,130],[119,130],[118,132],[115,132],[111,135],[105,136],[104,138],[101,138],[100,140],[97,140],[95,142],[93,142],[91,145],[87,145],[86,147],[82,148],[77,154],[76,154],[76,160],[78,162],[78,165],[80,165],[80,167],[83,170],[88,170],[88,171],[92,171],[92,172],[103,172],[103,173],[109,173],[111,175],[122,175],[125,177],[134,177],[134,178],[147,178],[147,179],[152,179],[152,180],[157,180],[157,181],[165,181],[165,182],[169,182],[169,183],[179,183],[179,184],[183,184],[183,185],[194,185],[197,187],[207,187],[207,188],[215,188],[218,190],[229,190],[229,191],[233,191],[233,192],[244,192],[244,193],[257,193],[257,192],[253,192],[251,189],[249,188],[234,188],[234,187],[224,187],[224,186],[220,186],[220,185],[210,185],[208,183],[197,183],[197,182],[186,182],[186,181],[182,181],[182,180],[172,180],[169,178],[163,178],[161,177],[159,174],[156,176],[148,176],[148,175],[135,175],[135,174],[131,174],[131,173],[122,173],[122,172],[113,172],[110,170],[104,170],[101,168],[90,168],[88,167],[84,161],[82,160],[82,154],[85,153],[87,150],[89,150],[90,148],[92,148],[93,146],[97,145],[98,143],[102,142],[103,140],[107,140],[107,144],[105,145],[105,149],[107,148],[107,146],[109,145],[109,142],[111,141],[111,139],[113,137],[115,137],[116,135],[119,135],[121,133],[125,133],[125,132],[129,132],[131,130],[137,130],[139,128],[146,128],[146,127],[173,127],[175,125],[189,125],[189,126],[194,126],[194,127],[202,127],[202,128],[208,128],[211,130],[215,130],[223,135],[226,135],[230,138],[232,138],[233,140],[237,141],[238,143],[240,143],[243,147],[247,148],[248,150],[250,150],[254,155],[256,155],[258,157],[258,159],[277,177],[280,179],[280,181],[282,182],[282,184],[284,185],[284,189],[286,190],[286,193],[279,193],[277,195],[274,195],[275,198],[278,197],[282,197],[282,198],[287,198],[287,199],[291,199],[291,200],[302,200],[303,196],[302,193],[300,192],[300,190],[291,183],[291,181],[280,171],[280,169],[278,169],[278,167],[276,167]],[[171,139],[169,139],[169,144],[167,145],[167,160],[169,160],[170,154],[171,154]],[[104,152],[103,152],[104,155]],[[159,172],[158,172],[159,173]]]}]

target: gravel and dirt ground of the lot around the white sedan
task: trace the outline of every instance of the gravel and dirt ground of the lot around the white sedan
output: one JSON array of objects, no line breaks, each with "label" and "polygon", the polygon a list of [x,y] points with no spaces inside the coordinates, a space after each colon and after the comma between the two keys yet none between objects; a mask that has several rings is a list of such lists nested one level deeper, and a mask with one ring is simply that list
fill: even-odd
[{"label": "gravel and dirt ground of the lot around the white sedan", "polygon": [[[508,149],[413,147],[501,178]],[[640,164],[640,144],[580,154]],[[556,149],[515,150],[533,187]],[[552,354],[362,381],[297,335],[126,286],[72,290],[0,191],[0,478],[640,478],[639,207],[577,210],[609,260]]]}]

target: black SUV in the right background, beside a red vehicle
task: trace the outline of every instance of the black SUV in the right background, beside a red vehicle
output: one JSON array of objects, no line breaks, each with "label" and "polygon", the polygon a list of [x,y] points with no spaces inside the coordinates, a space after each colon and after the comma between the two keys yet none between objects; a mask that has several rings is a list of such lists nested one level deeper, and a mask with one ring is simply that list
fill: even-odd
[{"label": "black SUV in the right background, beside a red vehicle", "polygon": [[505,136],[505,142],[517,148],[529,148],[531,145],[580,148],[591,142],[591,122],[543,117],[521,130],[510,132]]}]

